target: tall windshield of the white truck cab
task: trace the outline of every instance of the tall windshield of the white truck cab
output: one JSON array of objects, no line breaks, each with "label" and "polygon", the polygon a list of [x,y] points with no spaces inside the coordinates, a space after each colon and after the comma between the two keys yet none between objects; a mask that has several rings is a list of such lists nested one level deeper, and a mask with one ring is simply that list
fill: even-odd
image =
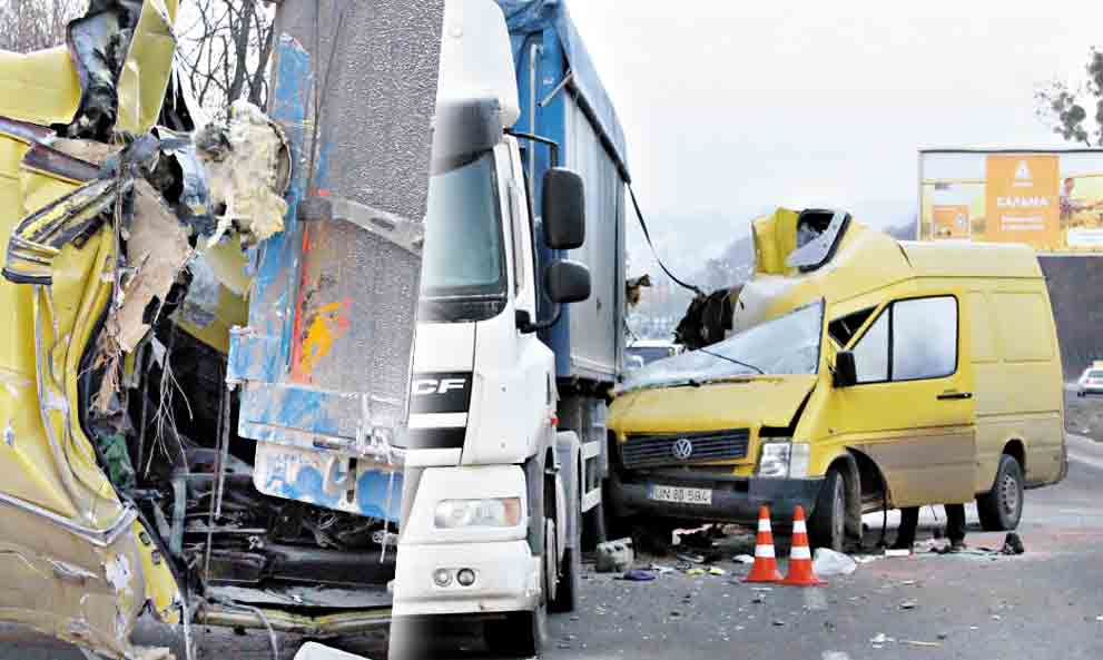
[{"label": "tall windshield of the white truck cab", "polygon": [[422,293],[492,295],[505,290],[494,156],[436,171],[429,183]]}]

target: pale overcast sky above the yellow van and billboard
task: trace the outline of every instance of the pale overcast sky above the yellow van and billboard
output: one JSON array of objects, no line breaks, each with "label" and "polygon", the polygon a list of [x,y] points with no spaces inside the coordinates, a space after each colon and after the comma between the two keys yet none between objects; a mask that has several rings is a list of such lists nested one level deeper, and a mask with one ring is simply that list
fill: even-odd
[{"label": "pale overcast sky above the yellow van and billboard", "polygon": [[701,234],[718,252],[777,205],[900,224],[915,213],[920,148],[1061,146],[1034,91],[1079,76],[1103,46],[1097,3],[749,4],[568,2],[654,233],[680,253],[671,260]]}]

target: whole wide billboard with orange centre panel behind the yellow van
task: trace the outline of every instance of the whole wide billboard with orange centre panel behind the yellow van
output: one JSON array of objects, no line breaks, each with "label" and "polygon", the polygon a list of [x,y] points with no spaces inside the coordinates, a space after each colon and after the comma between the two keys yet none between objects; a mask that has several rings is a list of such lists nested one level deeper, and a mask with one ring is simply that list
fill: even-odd
[{"label": "whole wide billboard with orange centre panel behind the yellow van", "polygon": [[920,151],[918,238],[1103,254],[1103,149]]}]

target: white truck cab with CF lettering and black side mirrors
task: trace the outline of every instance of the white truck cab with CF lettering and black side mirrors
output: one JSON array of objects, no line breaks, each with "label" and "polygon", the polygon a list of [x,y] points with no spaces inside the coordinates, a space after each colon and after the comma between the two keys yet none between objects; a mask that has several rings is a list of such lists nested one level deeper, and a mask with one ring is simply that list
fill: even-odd
[{"label": "white truck cab with CF lettering and black side mirrors", "polygon": [[392,649],[422,618],[477,615],[492,648],[533,654],[546,609],[573,608],[582,463],[557,427],[555,356],[538,331],[590,295],[585,266],[538,268],[536,240],[583,244],[582,179],[549,169],[538,224],[508,132],[518,96],[498,4],[450,0],[441,57]]}]

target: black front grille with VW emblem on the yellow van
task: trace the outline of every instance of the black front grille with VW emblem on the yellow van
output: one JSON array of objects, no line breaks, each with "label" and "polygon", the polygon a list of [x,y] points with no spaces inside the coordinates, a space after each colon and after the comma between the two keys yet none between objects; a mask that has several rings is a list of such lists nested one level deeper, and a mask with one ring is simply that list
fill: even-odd
[{"label": "black front grille with VW emblem on the yellow van", "polygon": [[703,461],[746,459],[750,431],[731,428],[705,433],[630,435],[621,445],[624,467],[678,465]]}]

